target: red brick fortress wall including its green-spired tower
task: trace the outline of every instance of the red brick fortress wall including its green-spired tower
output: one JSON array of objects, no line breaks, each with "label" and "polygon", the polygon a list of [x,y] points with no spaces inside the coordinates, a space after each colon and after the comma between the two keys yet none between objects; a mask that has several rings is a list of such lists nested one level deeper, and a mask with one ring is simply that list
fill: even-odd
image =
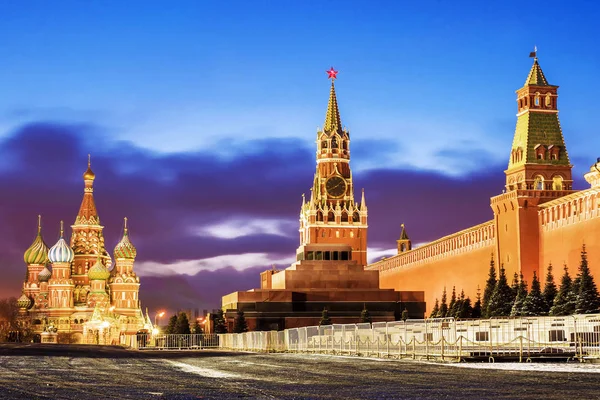
[{"label": "red brick fortress wall including its green-spired tower", "polygon": [[398,254],[366,267],[379,271],[382,288],[424,290],[429,312],[444,287],[451,291],[456,286],[475,298],[478,287],[485,286],[492,257],[496,266],[504,265],[509,279],[522,271],[531,282],[536,272],[543,285],[549,264],[554,271],[566,264],[575,276],[584,244],[590,270],[600,278],[600,159],[584,176],[590,188],[572,190],[557,99],[558,86],[548,83],[536,57],[517,91],[506,186],[490,199],[490,220],[416,249],[403,228]]}]

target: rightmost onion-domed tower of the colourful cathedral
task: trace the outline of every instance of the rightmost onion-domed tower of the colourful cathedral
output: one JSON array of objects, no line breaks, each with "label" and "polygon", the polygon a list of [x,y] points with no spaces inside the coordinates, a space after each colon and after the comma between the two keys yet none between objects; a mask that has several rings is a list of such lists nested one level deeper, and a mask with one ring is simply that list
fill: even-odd
[{"label": "rightmost onion-domed tower of the colourful cathedral", "polygon": [[123,237],[115,246],[115,267],[109,278],[111,303],[115,312],[123,315],[137,315],[140,308],[140,278],[133,271],[133,263],[137,250],[129,240],[127,218],[123,229]]}]

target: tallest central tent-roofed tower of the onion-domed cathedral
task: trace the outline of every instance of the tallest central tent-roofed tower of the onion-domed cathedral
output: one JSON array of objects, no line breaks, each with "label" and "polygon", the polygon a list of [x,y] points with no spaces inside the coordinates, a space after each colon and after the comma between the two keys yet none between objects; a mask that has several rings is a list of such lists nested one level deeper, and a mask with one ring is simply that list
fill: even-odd
[{"label": "tallest central tent-roofed tower of the onion-domed cathedral", "polygon": [[71,247],[75,252],[72,266],[72,277],[75,283],[75,304],[85,305],[87,294],[90,289],[88,277],[89,268],[96,263],[98,255],[105,262],[110,256],[104,249],[103,226],[100,225],[100,217],[94,202],[94,179],[96,175],[92,171],[88,155],[88,168],[83,174],[83,200],[79,207],[79,213],[75,218],[75,224],[71,225]]}]

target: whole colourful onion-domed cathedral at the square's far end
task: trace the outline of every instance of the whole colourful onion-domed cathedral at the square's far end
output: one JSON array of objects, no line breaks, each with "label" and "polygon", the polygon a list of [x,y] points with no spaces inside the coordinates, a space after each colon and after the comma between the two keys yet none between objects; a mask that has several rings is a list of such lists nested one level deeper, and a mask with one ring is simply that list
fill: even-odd
[{"label": "whole colourful onion-domed cathedral at the square's far end", "polygon": [[18,306],[21,321],[34,332],[53,327],[68,334],[69,342],[109,344],[120,334],[151,327],[141,311],[140,280],[134,272],[137,251],[129,239],[127,218],[113,266],[94,202],[95,178],[88,159],[70,243],[61,221],[59,239],[48,248],[38,216],[37,235],[23,257],[27,274]]}]

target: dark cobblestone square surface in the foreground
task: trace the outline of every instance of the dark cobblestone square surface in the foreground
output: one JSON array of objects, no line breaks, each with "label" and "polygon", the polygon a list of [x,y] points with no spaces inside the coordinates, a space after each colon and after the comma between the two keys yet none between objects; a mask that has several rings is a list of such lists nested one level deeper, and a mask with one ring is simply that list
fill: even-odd
[{"label": "dark cobblestone square surface in the foreground", "polygon": [[597,373],[547,366],[506,371],[318,355],[3,345],[0,398],[600,398]]}]

